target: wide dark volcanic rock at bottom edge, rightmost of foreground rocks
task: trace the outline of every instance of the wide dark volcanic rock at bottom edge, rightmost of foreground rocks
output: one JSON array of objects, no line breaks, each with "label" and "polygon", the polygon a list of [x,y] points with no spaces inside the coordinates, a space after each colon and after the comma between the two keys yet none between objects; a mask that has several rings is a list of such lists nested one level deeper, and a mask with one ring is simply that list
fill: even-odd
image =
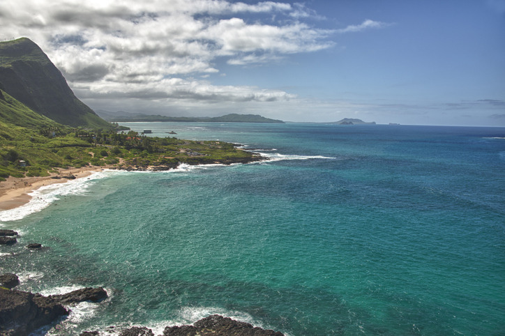
[{"label": "wide dark volcanic rock at bottom edge, rightmost of foreground rocks", "polygon": [[220,315],[207,316],[195,322],[195,326],[167,327],[163,336],[284,336],[284,334],[253,327],[250,323],[239,322]]}]

